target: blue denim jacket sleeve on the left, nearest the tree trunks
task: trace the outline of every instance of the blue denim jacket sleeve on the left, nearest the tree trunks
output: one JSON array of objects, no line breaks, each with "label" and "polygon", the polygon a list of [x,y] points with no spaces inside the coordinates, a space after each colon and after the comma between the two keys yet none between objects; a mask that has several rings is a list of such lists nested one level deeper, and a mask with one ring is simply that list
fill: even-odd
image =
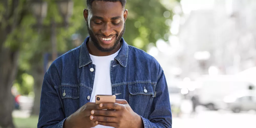
[{"label": "blue denim jacket sleeve on the left, nearest the tree trunks", "polygon": [[47,72],[42,85],[38,128],[62,128],[66,120],[55,87]]}]

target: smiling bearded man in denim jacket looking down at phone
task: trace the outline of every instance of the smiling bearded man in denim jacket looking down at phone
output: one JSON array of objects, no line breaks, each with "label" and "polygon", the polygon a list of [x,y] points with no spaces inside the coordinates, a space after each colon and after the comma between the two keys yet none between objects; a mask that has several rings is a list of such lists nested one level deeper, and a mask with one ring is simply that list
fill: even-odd
[{"label": "smiling bearded man in denim jacket looking down at phone", "polygon": [[[83,15],[90,36],[46,72],[39,128],[172,127],[162,68],[122,38],[125,4],[126,0],[87,0]],[[96,105],[97,94],[114,94],[116,103]]]}]

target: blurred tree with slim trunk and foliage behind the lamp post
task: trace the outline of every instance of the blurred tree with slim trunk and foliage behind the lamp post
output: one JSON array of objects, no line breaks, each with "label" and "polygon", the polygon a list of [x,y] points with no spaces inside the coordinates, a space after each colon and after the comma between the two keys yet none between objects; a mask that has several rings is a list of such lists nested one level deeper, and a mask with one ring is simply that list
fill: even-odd
[{"label": "blurred tree with slim trunk and foliage behind the lamp post", "polygon": [[[46,16],[46,19],[44,20],[44,28],[41,30],[42,32],[39,34],[37,40],[35,42],[30,42],[30,47],[24,47],[24,50],[21,52],[21,61],[23,63],[20,63],[21,67],[24,70],[26,70],[29,74],[31,74],[34,77],[35,83],[34,83],[34,106],[32,109],[31,114],[32,115],[38,115],[39,109],[40,109],[40,96],[41,96],[41,88],[42,88],[42,82],[44,79],[45,74],[45,68],[43,63],[45,60],[43,60],[43,56],[45,53],[51,53],[51,23],[54,21],[57,25],[60,26],[56,29],[56,38],[57,38],[57,51],[59,53],[65,53],[69,49],[74,48],[74,45],[72,44],[72,41],[70,40],[71,35],[76,33],[76,31],[81,28],[83,25],[83,9],[85,6],[86,1],[81,0],[73,0],[74,7],[73,7],[73,13],[81,15],[73,15],[69,20],[69,27],[65,28],[64,26],[61,26],[63,24],[63,18],[60,16],[58,11],[58,6],[56,1],[50,1],[48,0],[48,13]],[[81,4],[82,3],[82,4]],[[32,45],[32,46],[31,46]],[[26,49],[26,50],[25,50]],[[29,55],[29,56],[28,56]],[[24,67],[22,67],[22,65]],[[47,70],[47,69],[46,69]]]}]

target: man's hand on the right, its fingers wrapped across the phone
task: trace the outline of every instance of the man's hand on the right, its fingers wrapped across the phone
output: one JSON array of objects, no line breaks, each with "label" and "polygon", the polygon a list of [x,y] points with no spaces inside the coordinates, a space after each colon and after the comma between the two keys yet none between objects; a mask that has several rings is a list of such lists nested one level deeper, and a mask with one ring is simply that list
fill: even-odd
[{"label": "man's hand on the right, its fingers wrapped across the phone", "polygon": [[126,100],[116,99],[116,103],[101,103],[102,109],[114,110],[92,110],[90,119],[96,124],[112,127],[143,127],[141,117],[133,112]]}]

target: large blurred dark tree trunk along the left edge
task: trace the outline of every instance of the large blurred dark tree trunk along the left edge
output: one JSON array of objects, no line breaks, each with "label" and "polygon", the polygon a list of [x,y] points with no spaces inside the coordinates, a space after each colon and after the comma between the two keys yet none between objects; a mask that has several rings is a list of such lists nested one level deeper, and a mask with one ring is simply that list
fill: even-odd
[{"label": "large blurred dark tree trunk along the left edge", "polygon": [[28,14],[27,1],[0,1],[0,126],[14,127],[12,110],[14,97],[11,87],[16,77],[17,60],[22,42],[20,31]]}]

